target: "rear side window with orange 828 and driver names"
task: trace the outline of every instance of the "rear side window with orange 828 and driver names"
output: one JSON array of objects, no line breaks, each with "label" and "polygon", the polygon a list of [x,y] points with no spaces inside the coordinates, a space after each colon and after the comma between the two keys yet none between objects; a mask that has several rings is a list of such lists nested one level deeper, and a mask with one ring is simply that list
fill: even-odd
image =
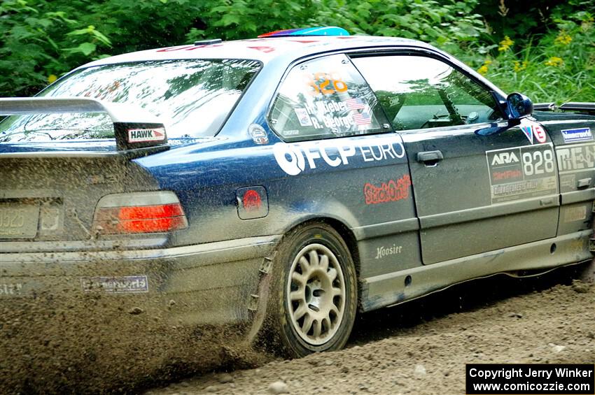
[{"label": "rear side window with orange 828 and driver names", "polygon": [[269,122],[286,141],[390,130],[372,89],[345,55],[294,66],[281,82]]}]

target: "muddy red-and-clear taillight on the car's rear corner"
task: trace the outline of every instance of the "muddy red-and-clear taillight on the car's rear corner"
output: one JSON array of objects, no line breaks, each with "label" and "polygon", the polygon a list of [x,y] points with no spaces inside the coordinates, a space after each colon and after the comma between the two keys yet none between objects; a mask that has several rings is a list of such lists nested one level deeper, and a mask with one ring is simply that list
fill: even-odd
[{"label": "muddy red-and-clear taillight on the car's rear corner", "polygon": [[188,221],[174,192],[111,194],[97,203],[93,229],[99,234],[141,234],[186,229]]}]

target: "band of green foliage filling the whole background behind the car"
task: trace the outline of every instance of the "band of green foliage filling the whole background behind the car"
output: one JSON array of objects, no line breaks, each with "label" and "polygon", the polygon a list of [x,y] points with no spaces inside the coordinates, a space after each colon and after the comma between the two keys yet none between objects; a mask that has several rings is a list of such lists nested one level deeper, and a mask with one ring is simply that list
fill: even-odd
[{"label": "band of green foliage filling the whole background behind the car", "polygon": [[[433,43],[505,91],[524,92],[535,101],[595,101],[594,4],[588,0],[2,0],[0,96],[29,96],[74,67],[109,55],[202,38],[253,38],[278,29],[332,25],[352,34]],[[510,42],[504,50],[503,42]]]}]

